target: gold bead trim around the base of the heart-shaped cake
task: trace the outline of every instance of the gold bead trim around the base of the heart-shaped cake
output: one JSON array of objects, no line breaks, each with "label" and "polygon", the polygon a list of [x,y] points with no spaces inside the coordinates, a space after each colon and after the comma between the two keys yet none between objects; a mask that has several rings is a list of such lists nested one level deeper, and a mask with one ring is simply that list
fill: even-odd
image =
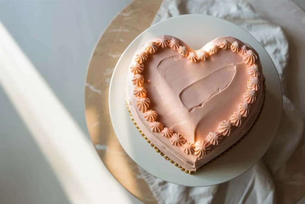
[{"label": "gold bead trim around the base of the heart-shaped cake", "polygon": [[141,133],[141,135],[143,136],[144,139],[147,140],[148,143],[150,143],[150,146],[153,147],[157,153],[160,153],[160,155],[162,157],[164,157],[166,160],[170,161],[170,163],[174,164],[175,166],[177,166],[178,168],[181,169],[181,171],[184,171],[185,173],[188,173],[188,174],[193,174],[195,172],[197,172],[199,169],[203,169],[205,166],[208,166],[210,165],[211,163],[213,163],[214,161],[216,161],[218,158],[221,158],[223,155],[227,154],[229,151],[231,151],[231,149],[233,149],[234,147],[236,147],[243,139],[245,139],[245,137],[249,134],[249,132],[252,130],[252,128],[254,127],[254,125],[256,124],[258,118],[260,117],[260,113],[262,112],[263,108],[264,108],[264,104],[265,104],[265,96],[266,96],[266,84],[265,84],[265,77],[264,77],[264,80],[263,80],[263,83],[264,83],[264,101],[263,101],[263,104],[262,104],[262,107],[260,109],[260,112],[258,113],[255,121],[253,122],[252,126],[249,128],[249,130],[236,142],[234,143],[231,147],[229,147],[227,150],[225,150],[223,153],[219,154],[217,157],[213,158],[211,161],[207,162],[206,164],[204,164],[203,166],[199,167],[196,171],[188,171],[186,169],[184,169],[183,167],[181,167],[180,165],[178,165],[176,162],[174,162],[173,160],[171,160],[170,158],[168,158],[165,154],[163,154],[163,152],[161,152],[152,142],[150,142],[149,139],[147,139],[147,137],[144,135],[144,133],[142,132],[142,130],[140,130],[139,126],[137,125],[137,123],[135,122],[134,118],[132,117],[131,115],[131,112],[130,112],[130,109],[128,107],[128,103],[126,101],[126,106],[127,106],[127,109],[129,111],[129,115],[130,115],[130,118],[131,120],[133,121],[133,123],[135,124],[135,127],[138,129],[138,131]]}]

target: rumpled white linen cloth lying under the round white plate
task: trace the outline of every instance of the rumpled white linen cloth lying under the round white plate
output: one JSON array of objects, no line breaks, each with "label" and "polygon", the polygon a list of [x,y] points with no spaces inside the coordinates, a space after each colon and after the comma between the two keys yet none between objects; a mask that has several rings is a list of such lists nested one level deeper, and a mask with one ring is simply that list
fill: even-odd
[{"label": "rumpled white linen cloth lying under the round white plate", "polygon": [[[285,35],[279,26],[262,20],[248,3],[216,0],[164,0],[152,24],[188,13],[221,17],[246,29],[264,46],[276,66],[281,81],[284,79],[283,70],[289,69],[289,65],[287,65],[288,42]],[[283,89],[285,90],[285,87]],[[163,181],[145,170],[139,169],[159,204],[276,203],[271,175],[289,159],[300,141],[302,131],[301,117],[290,100],[283,95],[281,123],[271,146],[262,160],[241,176],[209,187],[185,187]]]}]

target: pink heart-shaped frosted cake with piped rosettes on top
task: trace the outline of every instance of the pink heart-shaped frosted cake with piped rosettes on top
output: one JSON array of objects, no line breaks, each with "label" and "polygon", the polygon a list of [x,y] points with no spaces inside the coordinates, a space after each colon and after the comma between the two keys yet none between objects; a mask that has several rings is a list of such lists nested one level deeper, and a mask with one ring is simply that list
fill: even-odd
[{"label": "pink heart-shaped frosted cake with piped rosettes on top", "polygon": [[233,37],[193,50],[163,35],[145,44],[128,68],[126,102],[142,136],[193,172],[252,127],[264,102],[258,53]]}]

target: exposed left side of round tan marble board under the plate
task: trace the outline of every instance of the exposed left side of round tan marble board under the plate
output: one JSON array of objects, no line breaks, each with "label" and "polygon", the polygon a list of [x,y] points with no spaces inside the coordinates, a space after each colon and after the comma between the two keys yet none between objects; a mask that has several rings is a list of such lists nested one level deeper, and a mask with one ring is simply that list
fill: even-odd
[{"label": "exposed left side of round tan marble board under the plate", "polygon": [[85,116],[92,142],[113,176],[145,203],[156,203],[156,199],[113,131],[108,91],[117,60],[132,40],[150,26],[160,4],[158,0],[136,0],[113,19],[93,51],[85,83]]}]

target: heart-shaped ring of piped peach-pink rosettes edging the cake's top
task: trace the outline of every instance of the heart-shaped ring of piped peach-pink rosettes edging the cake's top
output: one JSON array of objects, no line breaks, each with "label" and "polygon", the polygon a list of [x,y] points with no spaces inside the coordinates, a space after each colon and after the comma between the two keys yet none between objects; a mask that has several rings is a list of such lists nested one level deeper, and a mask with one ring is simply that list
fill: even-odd
[{"label": "heart-shaped ring of piped peach-pink rosettes edging the cake's top", "polygon": [[[144,76],[141,73],[144,70],[144,62],[147,60],[149,54],[155,53],[158,49],[169,46],[172,50],[177,50],[182,56],[187,57],[192,63],[200,60],[206,61],[211,55],[216,54],[219,49],[231,49],[232,52],[238,53],[245,64],[248,65],[248,74],[250,76],[247,82],[248,90],[243,95],[244,100],[239,104],[238,109],[234,112],[228,120],[223,120],[218,126],[218,130],[210,132],[206,139],[199,140],[195,144],[188,142],[180,133],[174,133],[172,129],[164,127],[156,119],[158,114],[156,111],[149,109],[150,99],[146,97],[146,90],[144,88]],[[132,83],[135,86],[134,93],[138,97],[137,107],[140,112],[144,113],[146,121],[151,123],[151,130],[155,133],[160,133],[163,137],[170,139],[173,146],[180,147],[187,155],[196,155],[198,159],[203,158],[211,150],[211,147],[216,146],[221,142],[225,136],[231,133],[231,127],[239,127],[242,123],[242,118],[247,117],[250,111],[250,104],[256,101],[256,91],[260,88],[259,68],[255,63],[257,60],[256,54],[253,53],[246,45],[239,47],[237,41],[229,43],[227,40],[221,41],[218,45],[213,44],[210,50],[199,50],[188,52],[185,46],[180,46],[179,41],[175,38],[171,40],[159,39],[157,42],[149,42],[145,47],[145,51],[136,54],[134,65],[130,67],[134,74]]]}]

